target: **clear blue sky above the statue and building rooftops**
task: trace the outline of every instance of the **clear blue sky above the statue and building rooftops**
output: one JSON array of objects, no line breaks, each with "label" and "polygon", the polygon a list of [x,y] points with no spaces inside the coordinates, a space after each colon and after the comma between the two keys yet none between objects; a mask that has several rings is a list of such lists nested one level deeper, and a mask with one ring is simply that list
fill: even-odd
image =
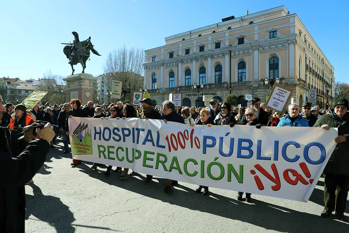
[{"label": "clear blue sky above the statue and building rooftops", "polygon": [[[247,2],[247,1],[246,1]],[[0,77],[21,80],[71,74],[60,43],[91,36],[94,48],[86,73],[104,73],[107,54],[126,46],[144,50],[162,46],[165,37],[221,22],[222,18],[255,13],[285,5],[296,13],[335,68],[336,81],[349,82],[349,3],[336,1],[228,0],[111,0],[111,1],[2,1],[0,16]],[[74,66],[80,73],[80,64]]]}]

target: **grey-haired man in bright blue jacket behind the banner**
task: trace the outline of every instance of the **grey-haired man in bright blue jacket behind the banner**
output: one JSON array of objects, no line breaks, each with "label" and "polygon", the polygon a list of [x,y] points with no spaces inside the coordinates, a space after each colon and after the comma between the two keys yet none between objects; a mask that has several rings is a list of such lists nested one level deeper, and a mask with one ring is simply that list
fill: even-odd
[{"label": "grey-haired man in bright blue jacket behind the banner", "polygon": [[288,106],[288,114],[285,117],[280,119],[279,124],[277,126],[303,126],[309,127],[308,122],[302,116],[299,115],[300,109],[298,104],[291,103]]}]

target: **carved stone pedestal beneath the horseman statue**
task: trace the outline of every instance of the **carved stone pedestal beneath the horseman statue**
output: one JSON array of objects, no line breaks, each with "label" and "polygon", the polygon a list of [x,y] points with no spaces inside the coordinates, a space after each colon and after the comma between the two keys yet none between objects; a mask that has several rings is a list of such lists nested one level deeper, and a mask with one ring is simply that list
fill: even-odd
[{"label": "carved stone pedestal beneath the horseman statue", "polygon": [[70,102],[71,99],[79,99],[81,105],[92,101],[93,97],[93,81],[96,80],[92,74],[80,73],[67,76],[63,79],[67,82],[66,100]]}]

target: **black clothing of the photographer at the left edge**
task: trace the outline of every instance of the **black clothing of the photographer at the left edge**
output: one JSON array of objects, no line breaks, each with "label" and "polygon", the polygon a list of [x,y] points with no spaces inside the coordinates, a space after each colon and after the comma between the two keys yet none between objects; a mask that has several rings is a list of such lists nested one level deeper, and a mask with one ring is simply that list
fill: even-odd
[{"label": "black clothing of the photographer at the left edge", "polygon": [[14,158],[0,147],[0,232],[24,232],[24,184],[38,172],[49,150],[50,144],[43,139],[31,141]]}]

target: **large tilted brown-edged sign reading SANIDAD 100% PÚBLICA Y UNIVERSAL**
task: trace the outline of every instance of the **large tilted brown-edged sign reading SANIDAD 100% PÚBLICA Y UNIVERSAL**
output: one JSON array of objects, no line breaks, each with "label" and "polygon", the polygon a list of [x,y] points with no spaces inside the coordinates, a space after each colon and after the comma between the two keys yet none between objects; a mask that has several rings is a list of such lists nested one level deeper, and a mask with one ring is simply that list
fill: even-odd
[{"label": "large tilted brown-edged sign reading SANIDAD 100% P\u00daBLICA Y UNIVERSAL", "polygon": [[270,92],[270,97],[266,103],[268,109],[274,109],[276,112],[283,113],[288,102],[292,97],[294,89],[274,83],[273,89]]}]

